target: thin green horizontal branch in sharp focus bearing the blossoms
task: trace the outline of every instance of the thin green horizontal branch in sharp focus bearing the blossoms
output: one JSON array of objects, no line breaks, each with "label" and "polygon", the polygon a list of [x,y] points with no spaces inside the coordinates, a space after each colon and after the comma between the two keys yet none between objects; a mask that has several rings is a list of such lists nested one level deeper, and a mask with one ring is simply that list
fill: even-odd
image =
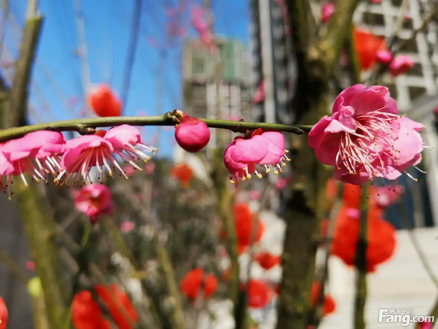
[{"label": "thin green horizontal branch in sharp focus bearing the blossoms", "polygon": [[[205,122],[210,128],[229,129],[233,132],[245,133],[247,130],[262,128],[268,131],[283,131],[291,132],[297,135],[303,135],[310,131],[311,125],[277,125],[274,123],[261,122],[240,122],[216,119],[200,119]],[[113,127],[119,125],[136,125],[136,126],[172,126],[178,124],[179,119],[172,112],[167,112],[163,115],[151,117],[109,117],[109,118],[85,118],[65,121],[56,121],[42,123],[39,125],[28,125],[24,127],[11,128],[0,130],[0,142],[9,139],[19,138],[28,132],[38,130],[50,131],[76,131],[81,134],[92,134],[96,128]]]}]

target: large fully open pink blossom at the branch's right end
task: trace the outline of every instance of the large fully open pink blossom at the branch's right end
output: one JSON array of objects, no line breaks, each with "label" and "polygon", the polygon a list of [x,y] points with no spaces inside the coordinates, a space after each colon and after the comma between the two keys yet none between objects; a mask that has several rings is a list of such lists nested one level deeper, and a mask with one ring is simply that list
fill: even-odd
[{"label": "large fully open pink blossom at the branch's right end", "polygon": [[396,179],[418,164],[422,128],[399,117],[388,88],[357,84],[339,94],[332,116],[313,126],[307,143],[319,161],[335,166],[335,179],[362,185],[374,177]]}]

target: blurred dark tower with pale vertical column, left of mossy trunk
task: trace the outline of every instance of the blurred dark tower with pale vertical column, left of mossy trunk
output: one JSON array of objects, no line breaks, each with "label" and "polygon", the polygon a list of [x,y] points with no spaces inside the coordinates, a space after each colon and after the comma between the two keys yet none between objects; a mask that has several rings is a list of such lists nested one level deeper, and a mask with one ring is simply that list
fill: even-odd
[{"label": "blurred dark tower with pale vertical column, left of mossy trunk", "polygon": [[251,0],[250,45],[254,89],[264,83],[265,99],[257,104],[262,122],[292,124],[294,58],[286,7],[279,0]]}]

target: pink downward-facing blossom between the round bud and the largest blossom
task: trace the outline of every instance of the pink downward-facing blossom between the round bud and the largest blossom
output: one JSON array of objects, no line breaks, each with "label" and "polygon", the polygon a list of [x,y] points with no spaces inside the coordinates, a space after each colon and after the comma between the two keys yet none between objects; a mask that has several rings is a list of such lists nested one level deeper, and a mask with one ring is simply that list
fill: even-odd
[{"label": "pink downward-facing blossom between the round bud and the largest blossom", "polygon": [[263,132],[262,129],[257,129],[245,136],[235,137],[224,154],[225,167],[231,174],[230,181],[236,183],[239,179],[251,179],[252,173],[262,178],[256,164],[263,166],[266,173],[271,171],[268,166],[272,166],[274,175],[283,172],[281,167],[286,165],[283,160],[290,161],[284,147],[284,136],[281,132]]}]

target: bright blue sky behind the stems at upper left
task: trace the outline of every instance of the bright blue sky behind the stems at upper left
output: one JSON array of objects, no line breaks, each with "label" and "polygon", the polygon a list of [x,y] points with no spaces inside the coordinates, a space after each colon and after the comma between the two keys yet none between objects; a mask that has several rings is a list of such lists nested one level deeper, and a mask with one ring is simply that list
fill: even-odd
[{"label": "bright blue sky behind the stems at upper left", "polygon": [[[82,82],[80,61],[75,57],[78,48],[74,0],[41,0],[40,11],[46,17],[42,29],[37,61],[33,71],[30,101],[35,112],[30,114],[32,123],[77,118],[81,108]],[[11,3],[6,47],[2,61],[11,60],[18,54],[20,29],[25,21],[27,0]],[[196,1],[188,1],[196,4]],[[163,61],[159,49],[151,46],[151,40],[162,43],[166,39],[166,7],[173,7],[177,0],[143,0],[141,30],[131,75],[131,90],[125,115],[157,114],[156,70]],[[198,2],[201,4],[201,2]],[[82,10],[87,37],[88,60],[92,83],[110,82],[120,92],[124,75],[125,57],[131,28],[132,0],[82,0]],[[215,32],[221,36],[248,39],[248,1],[212,1],[215,16]],[[184,24],[188,32],[188,12]],[[181,41],[174,44],[165,60],[161,75],[164,85],[163,112],[180,107],[180,55]],[[3,74],[8,72],[2,68]],[[66,104],[74,98],[79,103],[71,108]],[[152,139],[155,129],[145,128],[145,141]],[[173,147],[173,131],[163,131],[160,153],[170,155]]]}]

